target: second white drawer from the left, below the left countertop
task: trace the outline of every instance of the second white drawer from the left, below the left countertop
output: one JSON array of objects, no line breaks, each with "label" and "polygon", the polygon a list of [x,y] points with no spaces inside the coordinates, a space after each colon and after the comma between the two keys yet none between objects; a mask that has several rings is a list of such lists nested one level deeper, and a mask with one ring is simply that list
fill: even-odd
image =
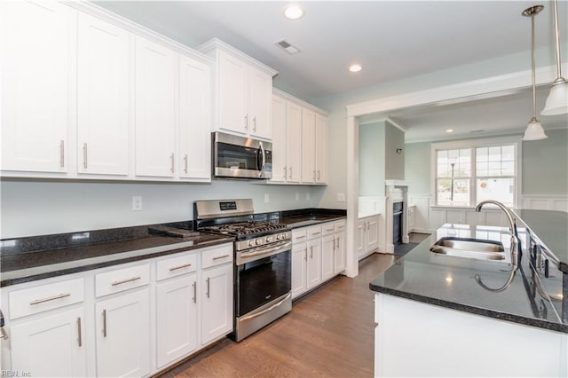
[{"label": "second white drawer from the left, below the left countertop", "polygon": [[130,288],[145,286],[149,282],[149,264],[130,266],[130,268],[99,273],[95,278],[96,296],[120,293]]}]

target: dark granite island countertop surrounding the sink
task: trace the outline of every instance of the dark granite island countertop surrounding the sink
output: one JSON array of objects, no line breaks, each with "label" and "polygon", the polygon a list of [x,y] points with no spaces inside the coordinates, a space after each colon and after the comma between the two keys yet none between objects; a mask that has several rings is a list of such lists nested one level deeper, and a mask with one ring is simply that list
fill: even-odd
[{"label": "dark granite island countertop surrounding the sink", "polygon": [[[369,284],[376,292],[397,295],[414,301],[430,303],[448,309],[466,311],[494,319],[503,319],[526,326],[568,333],[568,320],[562,317],[562,304],[554,303],[548,294],[562,293],[562,274],[540,277],[530,264],[524,250],[521,266],[511,285],[501,293],[480,287],[479,274],[489,287],[501,287],[509,277],[508,263],[479,261],[439,255],[430,247],[442,236],[456,235],[477,239],[498,240],[509,250],[507,228],[452,224],[430,235],[388,270]],[[519,229],[525,246],[526,230]],[[546,285],[542,280],[547,280]],[[542,293],[546,287],[554,293]]]}]

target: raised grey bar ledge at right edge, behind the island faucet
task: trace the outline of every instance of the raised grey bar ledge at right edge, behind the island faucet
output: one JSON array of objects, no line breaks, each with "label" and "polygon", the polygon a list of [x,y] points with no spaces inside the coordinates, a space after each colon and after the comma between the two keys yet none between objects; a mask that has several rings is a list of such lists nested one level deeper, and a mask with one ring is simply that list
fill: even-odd
[{"label": "raised grey bar ledge at right edge, behind the island faucet", "polygon": [[515,209],[517,219],[556,256],[561,272],[568,273],[568,213],[554,210]]}]

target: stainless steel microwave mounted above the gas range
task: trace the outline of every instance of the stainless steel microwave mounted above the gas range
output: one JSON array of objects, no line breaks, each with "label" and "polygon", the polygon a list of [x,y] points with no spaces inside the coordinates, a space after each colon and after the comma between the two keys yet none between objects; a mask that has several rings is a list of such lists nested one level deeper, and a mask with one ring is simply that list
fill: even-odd
[{"label": "stainless steel microwave mounted above the gas range", "polygon": [[272,177],[272,143],[219,131],[211,139],[213,177]]}]

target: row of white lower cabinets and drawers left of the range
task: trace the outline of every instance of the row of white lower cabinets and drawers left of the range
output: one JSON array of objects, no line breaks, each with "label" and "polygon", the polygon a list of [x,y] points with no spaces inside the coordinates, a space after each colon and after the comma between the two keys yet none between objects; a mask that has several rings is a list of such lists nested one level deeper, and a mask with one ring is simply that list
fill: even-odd
[{"label": "row of white lower cabinets and drawers left of the range", "polygon": [[233,244],[2,287],[0,295],[3,371],[148,376],[233,331]]}]

